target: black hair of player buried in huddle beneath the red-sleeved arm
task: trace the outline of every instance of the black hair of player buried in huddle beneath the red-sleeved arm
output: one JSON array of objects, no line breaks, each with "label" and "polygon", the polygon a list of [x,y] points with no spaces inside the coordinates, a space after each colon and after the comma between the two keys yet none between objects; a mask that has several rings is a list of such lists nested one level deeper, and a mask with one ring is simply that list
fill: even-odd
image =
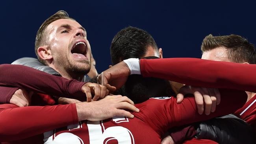
[{"label": "black hair of player buried in huddle beneath the red-sleeved arm", "polygon": [[[158,59],[158,57],[145,57],[145,59]],[[173,96],[168,80],[159,78],[143,78],[141,75],[130,75],[123,87],[115,94],[127,96],[134,103],[142,103],[153,97]]]}]

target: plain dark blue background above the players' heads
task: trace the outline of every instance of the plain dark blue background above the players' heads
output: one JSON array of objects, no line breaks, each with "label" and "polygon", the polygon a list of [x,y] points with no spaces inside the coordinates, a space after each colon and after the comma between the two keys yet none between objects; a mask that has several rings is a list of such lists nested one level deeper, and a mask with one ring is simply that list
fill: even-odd
[{"label": "plain dark blue background above the players' heads", "polygon": [[164,57],[198,57],[208,35],[238,34],[256,44],[253,1],[2,1],[0,64],[35,57],[36,32],[50,15],[65,10],[88,33],[98,72],[111,64],[109,45],[122,28],[135,26],[151,33]]}]

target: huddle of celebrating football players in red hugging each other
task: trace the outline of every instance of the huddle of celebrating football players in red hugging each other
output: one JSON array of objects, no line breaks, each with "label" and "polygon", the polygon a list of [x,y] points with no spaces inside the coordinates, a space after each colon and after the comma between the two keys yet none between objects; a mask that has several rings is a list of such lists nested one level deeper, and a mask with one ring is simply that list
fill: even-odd
[{"label": "huddle of celebrating football players in red hugging each other", "polygon": [[0,143],[254,144],[254,45],[210,34],[201,50],[202,59],[163,58],[129,26],[98,74],[85,28],[58,11],[37,31],[38,59],[0,65]]}]

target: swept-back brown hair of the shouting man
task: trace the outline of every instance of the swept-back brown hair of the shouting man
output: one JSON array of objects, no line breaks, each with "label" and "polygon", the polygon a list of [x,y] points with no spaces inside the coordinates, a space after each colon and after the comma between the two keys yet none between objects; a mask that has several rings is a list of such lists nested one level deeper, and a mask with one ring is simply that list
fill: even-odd
[{"label": "swept-back brown hair of the shouting man", "polygon": [[49,18],[47,18],[45,20],[45,22],[43,22],[43,24],[40,26],[39,30],[37,31],[37,35],[35,37],[35,54],[37,55],[37,59],[41,62],[44,63],[44,60],[41,59],[41,57],[39,57],[39,55],[37,54],[37,49],[40,46],[43,46],[46,43],[45,41],[45,29],[47,28],[47,26],[59,19],[71,19],[74,20],[73,18],[69,17],[69,14],[66,11],[58,11],[57,13],[55,13],[54,15],[50,16]]}]

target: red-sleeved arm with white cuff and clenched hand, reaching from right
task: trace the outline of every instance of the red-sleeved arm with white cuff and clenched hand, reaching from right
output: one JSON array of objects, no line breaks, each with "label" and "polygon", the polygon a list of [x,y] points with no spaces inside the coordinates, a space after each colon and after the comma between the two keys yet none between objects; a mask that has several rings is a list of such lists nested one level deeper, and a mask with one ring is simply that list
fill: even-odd
[{"label": "red-sleeved arm with white cuff and clenched hand, reaching from right", "polygon": [[[99,75],[98,81],[112,88],[124,85],[130,74],[168,79],[186,85],[239,89],[256,92],[256,65],[195,58],[128,59]],[[121,77],[121,79],[119,79]]]}]

